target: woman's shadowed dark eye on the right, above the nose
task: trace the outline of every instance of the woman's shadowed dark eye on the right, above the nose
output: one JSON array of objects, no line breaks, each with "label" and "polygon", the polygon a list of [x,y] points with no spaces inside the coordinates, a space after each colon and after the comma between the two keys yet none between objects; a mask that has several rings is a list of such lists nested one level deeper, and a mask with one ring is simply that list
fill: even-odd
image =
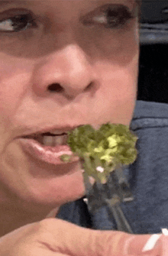
[{"label": "woman's shadowed dark eye on the right, above the nose", "polygon": [[119,28],[122,25],[126,24],[129,20],[136,18],[136,15],[133,14],[127,6],[121,5],[112,5],[106,7],[103,6],[102,10],[99,11],[99,15],[89,14],[86,21],[83,21],[87,24],[102,24],[105,28]]}]

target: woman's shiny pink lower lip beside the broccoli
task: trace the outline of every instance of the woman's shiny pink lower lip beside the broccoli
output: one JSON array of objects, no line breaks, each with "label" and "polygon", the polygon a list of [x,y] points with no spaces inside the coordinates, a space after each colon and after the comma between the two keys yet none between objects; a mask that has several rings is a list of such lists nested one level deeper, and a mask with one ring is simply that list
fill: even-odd
[{"label": "woman's shiny pink lower lip beside the broccoli", "polygon": [[57,145],[55,147],[44,146],[38,141],[31,138],[19,138],[21,147],[27,154],[31,154],[31,157],[36,157],[38,160],[42,160],[48,164],[67,164],[63,162],[60,157],[63,154],[68,154],[71,157],[71,163],[79,160],[70,149],[68,145]]}]

